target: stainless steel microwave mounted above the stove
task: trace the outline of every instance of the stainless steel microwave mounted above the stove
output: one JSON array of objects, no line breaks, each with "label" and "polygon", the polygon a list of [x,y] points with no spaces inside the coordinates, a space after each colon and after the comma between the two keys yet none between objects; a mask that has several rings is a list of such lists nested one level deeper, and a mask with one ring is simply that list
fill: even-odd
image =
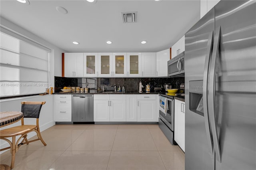
[{"label": "stainless steel microwave mounted above the stove", "polygon": [[185,51],[168,61],[169,77],[184,77],[185,75]]}]

